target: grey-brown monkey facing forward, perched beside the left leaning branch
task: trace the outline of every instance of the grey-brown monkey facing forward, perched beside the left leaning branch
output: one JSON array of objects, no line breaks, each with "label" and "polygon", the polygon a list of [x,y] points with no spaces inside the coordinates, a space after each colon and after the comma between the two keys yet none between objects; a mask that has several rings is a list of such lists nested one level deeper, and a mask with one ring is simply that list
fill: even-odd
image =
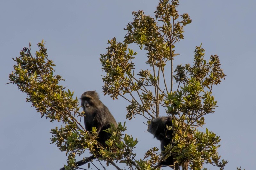
[{"label": "grey-brown monkey facing forward, perched beside the left leaning branch", "polygon": [[106,147],[105,141],[109,139],[111,134],[103,130],[110,128],[111,123],[117,127],[116,120],[108,108],[100,101],[96,91],[84,92],[80,99],[85,113],[85,129],[90,132],[92,131],[92,127],[96,127],[99,137],[96,140]]}]

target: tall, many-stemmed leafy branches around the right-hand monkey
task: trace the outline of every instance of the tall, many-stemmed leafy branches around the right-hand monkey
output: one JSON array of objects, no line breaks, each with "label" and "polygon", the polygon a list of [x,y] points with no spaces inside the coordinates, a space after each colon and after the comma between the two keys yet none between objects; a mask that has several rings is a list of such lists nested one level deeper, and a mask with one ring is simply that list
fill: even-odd
[{"label": "tall, many-stemmed leafy branches around the right-hand monkey", "polygon": [[[143,11],[133,12],[133,21],[124,29],[127,30],[124,42],[117,42],[116,38],[108,41],[107,53],[100,58],[106,73],[103,92],[113,99],[121,96],[130,102],[126,107],[129,120],[134,115],[151,120],[160,115],[161,107],[165,108],[175,123],[172,145],[167,146],[164,155],[172,153],[179,164],[189,160],[191,169],[201,168],[204,163],[223,169],[227,161],[220,161],[217,152],[220,138],[208,129],[199,132],[197,128],[205,124],[203,116],[213,113],[217,107],[212,87],[220,84],[225,75],[217,55],[211,55],[208,62],[204,59],[202,44],[195,49],[192,66],[178,65],[173,71],[173,59],[179,55],[175,53],[174,45],[184,38],[184,27],[191,23],[188,14],[178,14],[177,6],[177,0],[171,3],[160,0],[155,18]],[[149,69],[135,70],[133,59],[137,52],[128,48],[132,43],[147,52]],[[167,70],[166,74],[167,65],[170,65],[171,73]],[[170,76],[170,85],[166,76]],[[177,83],[176,91],[173,82]],[[181,128],[184,122],[186,127]],[[187,134],[193,134],[190,143],[186,142]],[[149,149],[145,158],[151,157],[151,166],[157,168],[160,156],[155,151],[155,148]]]}]

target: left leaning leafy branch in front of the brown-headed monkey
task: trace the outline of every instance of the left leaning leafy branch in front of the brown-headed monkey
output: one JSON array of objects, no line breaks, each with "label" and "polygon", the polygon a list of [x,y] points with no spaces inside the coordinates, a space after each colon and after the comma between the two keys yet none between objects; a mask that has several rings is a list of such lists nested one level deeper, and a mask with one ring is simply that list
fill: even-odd
[{"label": "left leaning leafy branch in front of the brown-headed monkey", "polygon": [[[38,43],[38,47],[36,57],[32,57],[30,50],[24,48],[20,52],[21,56],[13,59],[17,65],[14,65],[15,71],[9,75],[9,79],[10,83],[16,84],[27,94],[26,101],[31,102],[42,117],[49,118],[50,122],[63,123],[63,127],[51,129],[51,141],[61,151],[66,152],[68,166],[65,166],[65,169],[77,169],[75,157],[84,154],[86,149],[93,155],[101,155],[97,156],[99,160],[105,160],[113,165],[114,160],[132,160],[135,155],[133,148],[138,141],[127,134],[123,135],[126,131],[125,123],[119,123],[117,128],[108,129],[112,134],[106,141],[108,148],[98,144],[96,128],[88,132],[79,122],[84,113],[79,112],[78,99],[73,99],[74,92],[69,89],[65,91],[65,87],[58,85],[63,79],[59,75],[53,75],[55,65],[48,59],[44,42]],[[112,152],[112,148],[117,148],[116,153]],[[132,166],[134,163],[130,162]]]}]

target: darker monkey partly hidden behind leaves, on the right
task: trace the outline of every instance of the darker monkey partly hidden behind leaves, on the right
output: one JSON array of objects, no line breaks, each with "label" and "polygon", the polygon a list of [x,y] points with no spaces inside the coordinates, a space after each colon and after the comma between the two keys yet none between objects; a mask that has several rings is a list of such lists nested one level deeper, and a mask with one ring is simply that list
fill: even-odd
[{"label": "darker monkey partly hidden behind leaves, on the right", "polygon": [[[172,126],[172,118],[169,116],[154,118],[150,125],[148,126],[148,131],[160,140],[161,151],[165,151],[164,146],[171,143],[173,131],[168,130],[166,125]],[[190,136],[190,135],[189,135]],[[173,156],[169,156],[166,160],[162,161],[160,165],[170,166],[174,164]],[[171,166],[173,168],[173,166]],[[188,162],[184,162],[182,165],[182,170],[188,170]]]}]

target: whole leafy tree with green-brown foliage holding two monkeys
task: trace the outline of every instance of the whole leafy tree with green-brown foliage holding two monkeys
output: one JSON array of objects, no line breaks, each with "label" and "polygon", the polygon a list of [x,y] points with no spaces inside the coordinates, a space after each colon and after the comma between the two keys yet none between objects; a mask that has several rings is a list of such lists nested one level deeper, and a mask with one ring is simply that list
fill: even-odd
[{"label": "whole leafy tree with green-brown foliage holding two monkeys", "polygon": [[[200,132],[198,127],[205,124],[204,115],[214,113],[217,101],[212,95],[212,87],[220,84],[225,75],[217,55],[211,55],[208,62],[204,59],[202,44],[194,51],[193,65],[177,65],[174,69],[174,58],[179,55],[175,53],[175,43],[184,38],[184,26],[191,23],[188,14],[178,14],[178,3],[178,0],[160,0],[155,18],[143,11],[133,12],[133,22],[125,28],[128,33],[124,42],[117,42],[115,38],[109,40],[106,54],[100,57],[106,73],[103,92],[113,100],[121,96],[129,102],[126,118],[132,121],[134,115],[141,115],[149,124],[154,117],[172,117],[172,127],[168,129],[173,130],[173,138],[163,156],[152,147],[144,159],[137,159],[133,148],[138,141],[124,134],[125,123],[108,129],[112,134],[106,141],[108,148],[98,145],[100,149],[95,149],[96,129],[88,132],[78,121],[84,112],[79,111],[79,101],[77,97],[73,99],[73,92],[59,85],[63,79],[54,74],[55,65],[47,55],[44,41],[38,43],[39,51],[35,57],[29,46],[29,49],[23,48],[20,57],[13,59],[17,65],[9,76],[10,83],[27,94],[26,101],[31,102],[42,117],[63,123],[63,127],[51,129],[51,141],[66,152],[65,169],[77,169],[77,165],[92,161],[92,157],[84,157],[84,162],[76,161],[76,155],[83,155],[85,150],[116,169],[121,169],[122,164],[116,165],[115,161],[124,163],[129,169],[160,169],[159,162],[170,154],[177,160],[175,169],[187,160],[191,169],[200,169],[204,163],[224,168],[228,161],[220,160],[217,152],[220,137],[207,128],[206,132]],[[147,52],[148,70],[137,73],[134,70],[132,59],[137,52],[128,48],[132,43]],[[167,83],[169,78],[170,85]],[[166,113],[160,113],[161,110]],[[190,143],[186,142],[188,134],[193,135]],[[117,151],[113,152],[113,148]]]}]

